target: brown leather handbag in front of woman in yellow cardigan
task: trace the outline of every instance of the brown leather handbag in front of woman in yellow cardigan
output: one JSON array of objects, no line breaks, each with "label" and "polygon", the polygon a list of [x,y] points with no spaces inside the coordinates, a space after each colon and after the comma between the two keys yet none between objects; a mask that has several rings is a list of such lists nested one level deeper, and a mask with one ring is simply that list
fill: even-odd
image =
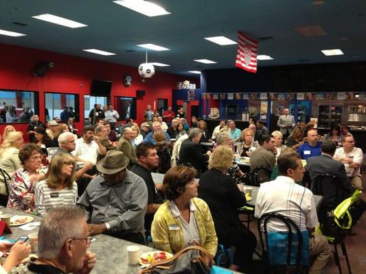
[{"label": "brown leather handbag in front of woman in yellow cardigan", "polygon": [[209,274],[214,260],[211,254],[197,245],[185,247],[172,258],[153,262],[139,274]]}]

